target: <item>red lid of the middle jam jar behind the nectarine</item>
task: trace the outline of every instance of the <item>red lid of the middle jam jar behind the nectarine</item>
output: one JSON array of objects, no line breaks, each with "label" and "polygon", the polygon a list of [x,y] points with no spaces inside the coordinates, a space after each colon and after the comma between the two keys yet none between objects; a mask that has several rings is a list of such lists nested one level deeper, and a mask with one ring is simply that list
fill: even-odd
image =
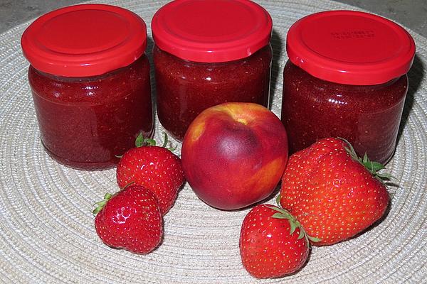
[{"label": "red lid of the middle jam jar behind the nectarine", "polygon": [[152,19],[154,43],[184,60],[247,58],[270,42],[268,11],[248,0],[176,0]]}]

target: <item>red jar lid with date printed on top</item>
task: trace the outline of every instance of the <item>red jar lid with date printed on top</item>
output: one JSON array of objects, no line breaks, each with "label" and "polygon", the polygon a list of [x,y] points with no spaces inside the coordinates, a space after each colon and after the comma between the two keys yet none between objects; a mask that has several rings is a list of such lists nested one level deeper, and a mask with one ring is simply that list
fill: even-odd
[{"label": "red jar lid with date printed on top", "polygon": [[382,84],[406,74],[415,43],[396,23],[358,11],[314,13],[295,22],[286,50],[310,75],[341,84]]}]

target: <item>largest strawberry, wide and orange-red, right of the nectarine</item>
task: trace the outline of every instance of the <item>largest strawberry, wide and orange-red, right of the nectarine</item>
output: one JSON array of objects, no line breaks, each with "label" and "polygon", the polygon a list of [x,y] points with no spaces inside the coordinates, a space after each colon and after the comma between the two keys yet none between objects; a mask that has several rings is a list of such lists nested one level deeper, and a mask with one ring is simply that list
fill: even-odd
[{"label": "largest strawberry, wide and orange-red, right of the nectarine", "polygon": [[325,138],[290,156],[280,204],[325,246],[359,234],[380,219],[389,195],[384,166],[358,158],[347,141]]}]

